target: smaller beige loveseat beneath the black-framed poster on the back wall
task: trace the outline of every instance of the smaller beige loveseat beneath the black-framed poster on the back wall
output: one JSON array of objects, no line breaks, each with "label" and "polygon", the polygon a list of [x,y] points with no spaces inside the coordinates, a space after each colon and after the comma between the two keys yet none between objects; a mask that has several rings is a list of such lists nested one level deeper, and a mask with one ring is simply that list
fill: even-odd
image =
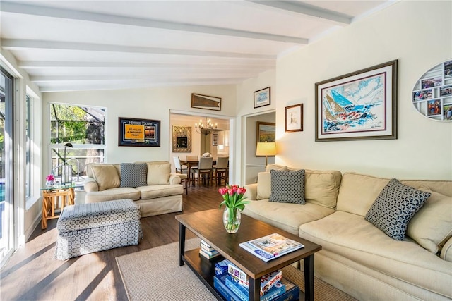
[{"label": "smaller beige loveseat beneath the black-framed poster on the back wall", "polygon": [[184,188],[168,161],[87,164],[85,202],[132,199],[141,216],[182,211]]}]

